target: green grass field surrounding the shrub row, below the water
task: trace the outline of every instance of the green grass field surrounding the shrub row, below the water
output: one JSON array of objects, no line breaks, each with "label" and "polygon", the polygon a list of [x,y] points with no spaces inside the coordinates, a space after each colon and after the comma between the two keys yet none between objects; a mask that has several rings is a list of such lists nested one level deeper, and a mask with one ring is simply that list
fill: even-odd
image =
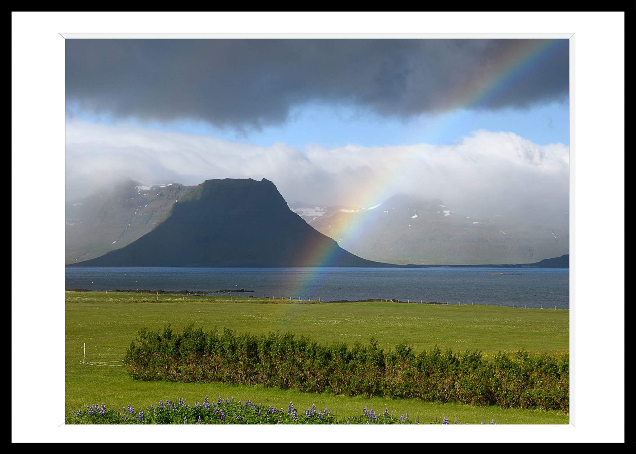
[{"label": "green grass field surrounding the shrub row, below the water", "polygon": [[[230,301],[232,298],[232,301]],[[267,300],[265,299],[265,302]],[[239,333],[287,331],[308,336],[319,343],[356,340],[368,343],[375,337],[384,348],[394,348],[406,340],[415,350],[438,345],[442,350],[481,350],[487,355],[499,351],[559,354],[569,350],[569,310],[522,309],[499,306],[420,305],[403,303],[269,303],[259,298],[230,296],[174,296],[124,294],[114,292],[66,293],[66,409],[85,408],[106,402],[121,408],[157,404],[159,399],[184,397],[188,403],[211,398],[235,397],[287,408],[290,401],[298,409],[311,404],[327,406],[339,416],[359,415],[364,406],[396,414],[408,411],[420,423],[448,416],[460,422],[565,424],[569,416],[558,411],[531,411],[437,404],[414,399],[303,394],[261,386],[247,387],[223,383],[140,382],[123,367],[86,366],[86,362],[123,359],[130,342],[142,327],[174,331],[194,323],[204,331],[228,327]],[[111,363],[111,364],[121,364]]]}]

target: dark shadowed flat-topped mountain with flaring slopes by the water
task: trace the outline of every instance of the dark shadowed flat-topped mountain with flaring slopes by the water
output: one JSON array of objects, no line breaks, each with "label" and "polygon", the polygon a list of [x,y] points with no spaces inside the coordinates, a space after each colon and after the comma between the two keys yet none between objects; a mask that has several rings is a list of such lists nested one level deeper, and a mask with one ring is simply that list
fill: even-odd
[{"label": "dark shadowed flat-topped mountain with flaring slopes by the water", "polygon": [[73,265],[391,266],[338,247],[294,214],[266,179],[207,180],[146,235]]}]

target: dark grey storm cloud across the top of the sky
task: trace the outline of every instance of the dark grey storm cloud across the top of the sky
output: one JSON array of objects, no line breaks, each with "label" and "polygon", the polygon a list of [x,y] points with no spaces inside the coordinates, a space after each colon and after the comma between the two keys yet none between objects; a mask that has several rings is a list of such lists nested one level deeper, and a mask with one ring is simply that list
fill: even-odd
[{"label": "dark grey storm cloud across the top of the sky", "polygon": [[[546,52],[524,67],[537,43]],[[66,98],[118,118],[238,128],[305,102],[401,118],[528,107],[567,99],[568,52],[567,39],[67,39]]]}]

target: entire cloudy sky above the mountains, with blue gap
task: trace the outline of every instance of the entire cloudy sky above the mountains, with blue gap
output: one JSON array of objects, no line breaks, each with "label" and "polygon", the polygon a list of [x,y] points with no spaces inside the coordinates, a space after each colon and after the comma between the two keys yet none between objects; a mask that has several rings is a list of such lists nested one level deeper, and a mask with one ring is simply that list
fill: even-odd
[{"label": "entire cloudy sky above the mountains, with blue gap", "polygon": [[66,39],[66,199],[266,178],[567,219],[569,78],[568,39]]}]

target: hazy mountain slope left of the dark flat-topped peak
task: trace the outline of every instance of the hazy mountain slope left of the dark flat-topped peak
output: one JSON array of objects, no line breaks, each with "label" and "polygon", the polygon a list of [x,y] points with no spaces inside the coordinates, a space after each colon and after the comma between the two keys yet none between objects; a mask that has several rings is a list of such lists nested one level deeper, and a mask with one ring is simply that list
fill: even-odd
[{"label": "hazy mountain slope left of the dark flat-topped peak", "polygon": [[66,264],[121,249],[155,228],[193,186],[125,179],[66,203]]}]

